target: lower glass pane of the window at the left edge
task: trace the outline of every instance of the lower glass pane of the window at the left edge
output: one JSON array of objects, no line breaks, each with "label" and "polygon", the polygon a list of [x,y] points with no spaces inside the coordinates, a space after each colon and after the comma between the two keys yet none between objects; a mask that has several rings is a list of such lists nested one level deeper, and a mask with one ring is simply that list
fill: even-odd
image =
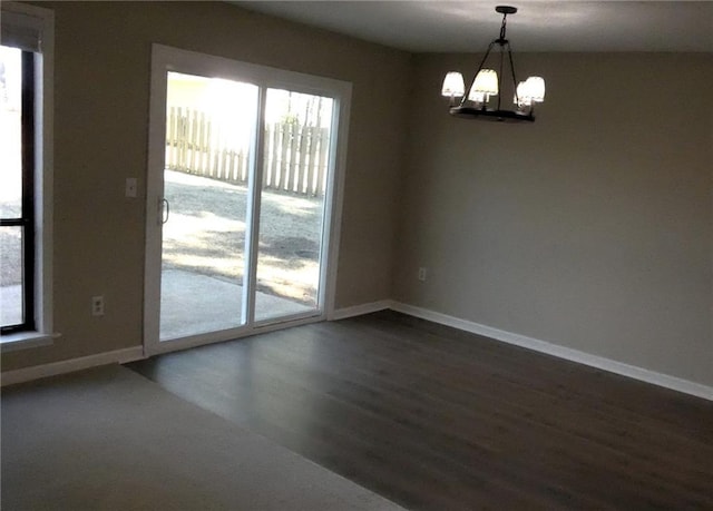
[{"label": "lower glass pane of the window at the left edge", "polygon": [[0,324],[23,323],[22,227],[0,227]]}]

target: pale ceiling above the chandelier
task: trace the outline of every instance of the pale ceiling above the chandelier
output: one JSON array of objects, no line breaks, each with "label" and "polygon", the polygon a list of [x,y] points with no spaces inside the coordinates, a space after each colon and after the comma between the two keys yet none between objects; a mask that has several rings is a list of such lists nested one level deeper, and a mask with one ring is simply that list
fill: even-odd
[{"label": "pale ceiling above the chandelier", "polygon": [[[506,1],[233,1],[412,52],[484,51]],[[517,0],[508,38],[517,51],[713,52],[713,1]]]}]

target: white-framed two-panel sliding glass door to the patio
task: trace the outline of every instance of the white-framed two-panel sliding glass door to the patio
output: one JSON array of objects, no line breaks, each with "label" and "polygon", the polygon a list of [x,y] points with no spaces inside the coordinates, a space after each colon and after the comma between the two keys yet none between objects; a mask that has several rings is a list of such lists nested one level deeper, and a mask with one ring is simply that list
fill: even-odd
[{"label": "white-framed two-panel sliding glass door to the patio", "polygon": [[147,353],[324,318],[349,85],[160,46],[152,80]]}]

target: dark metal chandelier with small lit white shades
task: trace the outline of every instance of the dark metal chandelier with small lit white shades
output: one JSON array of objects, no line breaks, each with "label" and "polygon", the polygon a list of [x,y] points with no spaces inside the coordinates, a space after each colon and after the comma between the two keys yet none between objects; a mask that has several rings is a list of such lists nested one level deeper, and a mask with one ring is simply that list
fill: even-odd
[{"label": "dark metal chandelier with small lit white shades", "polygon": [[[535,120],[535,104],[543,102],[545,100],[545,80],[540,77],[529,77],[527,80],[518,83],[517,78],[515,77],[515,65],[512,63],[510,42],[505,37],[507,17],[508,14],[515,14],[517,12],[517,8],[510,6],[498,6],[495,10],[502,14],[500,36],[497,39],[494,39],[488,46],[488,50],[480,61],[476,76],[470,83],[468,96],[466,96],[463,76],[458,71],[450,71],[446,75],[441,95],[450,98],[449,111],[450,115],[455,117],[506,122],[533,122]],[[488,57],[490,56],[490,51],[496,45],[500,49],[499,75],[494,69],[485,68]],[[512,110],[507,110],[501,107],[502,75],[506,53],[510,68],[510,76],[512,77],[512,102],[515,104],[515,109]],[[456,98],[461,98],[458,105],[456,105]]]}]

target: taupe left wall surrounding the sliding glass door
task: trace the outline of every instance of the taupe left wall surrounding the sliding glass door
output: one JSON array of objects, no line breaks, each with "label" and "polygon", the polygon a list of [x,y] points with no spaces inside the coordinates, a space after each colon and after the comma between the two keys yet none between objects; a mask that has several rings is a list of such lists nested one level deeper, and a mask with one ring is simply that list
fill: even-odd
[{"label": "taupe left wall surrounding the sliding glass door", "polygon": [[[52,346],[2,370],[141,344],[150,45],[159,42],[351,81],[336,306],[390,297],[410,56],[253,14],[224,2],[38,2],[55,10],[55,330]],[[104,294],[106,316],[90,315]]]}]

